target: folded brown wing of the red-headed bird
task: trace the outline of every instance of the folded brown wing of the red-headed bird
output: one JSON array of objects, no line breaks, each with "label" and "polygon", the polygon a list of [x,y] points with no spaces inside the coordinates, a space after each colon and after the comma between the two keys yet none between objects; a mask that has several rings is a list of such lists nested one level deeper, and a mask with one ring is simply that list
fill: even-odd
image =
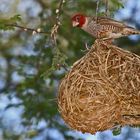
[{"label": "folded brown wing of the red-headed bird", "polygon": [[113,25],[120,28],[126,27],[124,23],[107,18],[107,17],[93,17],[93,20],[96,20],[97,23],[100,25]]}]

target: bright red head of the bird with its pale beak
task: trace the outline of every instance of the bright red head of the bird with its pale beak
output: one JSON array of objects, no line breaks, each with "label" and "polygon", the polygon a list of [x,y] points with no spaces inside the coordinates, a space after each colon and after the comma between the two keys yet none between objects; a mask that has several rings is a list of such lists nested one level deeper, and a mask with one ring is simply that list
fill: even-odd
[{"label": "bright red head of the bird with its pale beak", "polygon": [[73,27],[83,27],[86,22],[86,17],[82,14],[75,14],[72,18]]}]

